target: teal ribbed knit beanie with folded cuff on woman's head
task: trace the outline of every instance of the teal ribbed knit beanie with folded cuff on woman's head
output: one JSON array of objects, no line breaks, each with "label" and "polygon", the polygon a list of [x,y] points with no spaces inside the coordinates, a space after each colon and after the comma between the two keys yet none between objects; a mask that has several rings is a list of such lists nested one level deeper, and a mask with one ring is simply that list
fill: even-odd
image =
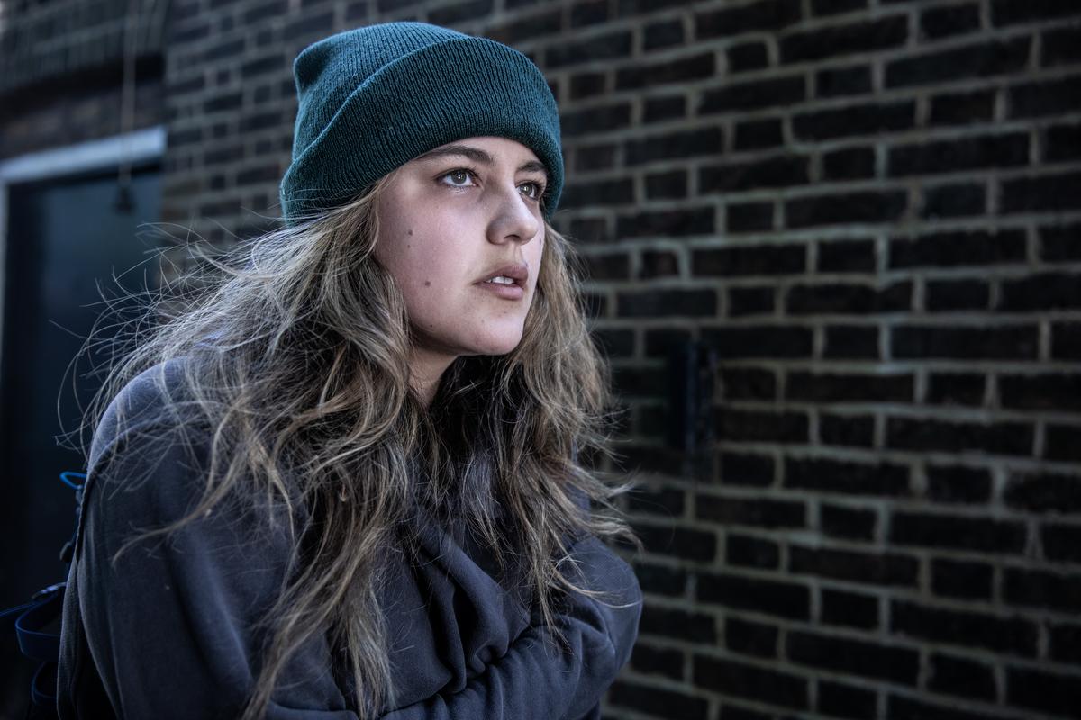
[{"label": "teal ribbed knit beanie with folded cuff on woman's head", "polygon": [[331,36],[293,63],[299,107],[281,181],[288,225],[355,198],[410,160],[466,137],[498,136],[548,168],[544,214],[563,187],[559,111],[517,50],[426,23]]}]

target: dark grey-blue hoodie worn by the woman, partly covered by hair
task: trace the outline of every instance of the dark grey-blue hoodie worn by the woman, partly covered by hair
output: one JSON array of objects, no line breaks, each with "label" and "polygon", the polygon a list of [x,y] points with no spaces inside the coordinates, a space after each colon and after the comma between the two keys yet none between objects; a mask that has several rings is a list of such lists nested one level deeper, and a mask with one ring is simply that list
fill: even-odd
[{"label": "dark grey-blue hoodie worn by the woman, partly covered by hair", "polygon": [[[166,384],[176,369],[165,367]],[[160,412],[155,373],[161,368],[120,393],[94,437],[64,607],[64,720],[239,717],[266,641],[258,621],[288,572],[285,526],[228,500],[111,561],[134,532],[181,517],[203,489],[208,449],[190,440],[208,435],[181,441],[177,423]],[[410,531],[422,561],[388,548],[379,589],[397,695],[384,718],[599,718],[641,614],[626,562],[592,536],[571,547],[572,576],[608,594],[605,602],[574,594],[560,603],[568,652],[485,571],[491,558],[468,532],[419,519]],[[356,719],[355,701],[344,656],[320,636],[285,666],[266,717]]]}]

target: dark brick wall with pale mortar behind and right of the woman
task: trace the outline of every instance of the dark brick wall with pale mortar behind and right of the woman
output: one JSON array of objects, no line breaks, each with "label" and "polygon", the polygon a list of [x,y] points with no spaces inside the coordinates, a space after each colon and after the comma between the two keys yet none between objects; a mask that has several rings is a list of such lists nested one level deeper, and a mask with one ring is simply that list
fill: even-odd
[{"label": "dark brick wall with pale mortar behind and right of the woman", "polygon": [[[290,64],[425,19],[560,101],[648,547],[606,717],[1081,707],[1081,8],[1052,0],[177,0],[163,220],[278,215]],[[707,452],[668,353],[717,363]]]}]

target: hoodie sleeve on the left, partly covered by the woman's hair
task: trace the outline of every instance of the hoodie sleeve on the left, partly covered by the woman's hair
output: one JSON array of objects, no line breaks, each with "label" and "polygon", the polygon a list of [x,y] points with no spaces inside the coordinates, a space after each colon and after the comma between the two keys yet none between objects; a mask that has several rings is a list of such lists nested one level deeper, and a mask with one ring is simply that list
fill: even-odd
[{"label": "hoodie sleeve on the left, partly covered by the woman's hair", "polygon": [[[281,589],[290,543],[226,499],[168,535],[133,533],[185,515],[206,453],[169,427],[141,427],[90,471],[76,562],[80,615],[118,717],[236,718],[254,687],[263,614]],[[285,666],[270,720],[356,720],[318,638]]]}]

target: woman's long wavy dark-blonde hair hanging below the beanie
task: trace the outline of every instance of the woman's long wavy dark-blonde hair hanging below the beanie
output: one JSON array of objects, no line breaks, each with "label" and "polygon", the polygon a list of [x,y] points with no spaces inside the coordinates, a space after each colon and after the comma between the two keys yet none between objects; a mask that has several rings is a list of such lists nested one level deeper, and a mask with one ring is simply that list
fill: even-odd
[{"label": "woman's long wavy dark-blonde hair hanging below the beanie", "polygon": [[[198,506],[121,552],[233,493],[286,508],[292,570],[266,616],[269,639],[245,720],[263,716],[291,654],[320,631],[346,651],[361,718],[392,703],[375,588],[379,559],[401,543],[396,527],[411,503],[456,507],[499,568],[521,568],[549,627],[559,593],[589,594],[561,571],[569,538],[588,532],[637,543],[613,504],[627,485],[587,468],[574,452],[611,454],[612,403],[575,295],[568,241],[545,223],[520,344],[503,356],[457,358],[425,408],[409,383],[404,302],[372,253],[375,207],[389,178],[217,263],[216,280],[197,283],[203,289],[183,310],[175,299],[155,303],[160,321],[112,365],[88,412],[93,429],[133,377],[185,358],[182,389],[168,390],[177,405],[196,409],[191,426],[210,433]],[[579,510],[576,493],[592,512]],[[494,503],[504,513],[498,524]]]}]

